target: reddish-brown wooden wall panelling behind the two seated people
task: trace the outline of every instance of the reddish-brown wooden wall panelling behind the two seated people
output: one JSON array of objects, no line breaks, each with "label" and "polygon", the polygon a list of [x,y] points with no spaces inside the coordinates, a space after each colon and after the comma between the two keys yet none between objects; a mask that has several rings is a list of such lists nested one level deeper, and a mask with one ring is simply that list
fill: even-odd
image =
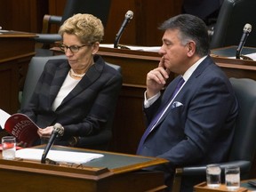
[{"label": "reddish-brown wooden wall panelling behind the two seated people", "polygon": [[[0,26],[8,30],[39,33],[44,14],[62,15],[66,0],[0,0]],[[108,24],[105,28],[104,44],[113,44],[116,33],[128,10],[134,12],[133,19],[125,28],[120,44],[159,45],[162,32],[160,23],[181,11],[180,0],[112,0]],[[11,10],[12,12],[10,12]],[[52,28],[56,33],[59,27]]]}]

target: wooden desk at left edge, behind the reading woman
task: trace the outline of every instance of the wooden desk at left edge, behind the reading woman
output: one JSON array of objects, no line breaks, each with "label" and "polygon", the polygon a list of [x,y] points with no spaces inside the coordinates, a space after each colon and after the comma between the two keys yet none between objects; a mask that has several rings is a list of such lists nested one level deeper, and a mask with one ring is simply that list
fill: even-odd
[{"label": "wooden desk at left edge, behind the reading woman", "polygon": [[20,108],[28,63],[35,55],[35,34],[0,30],[0,108],[13,114]]}]

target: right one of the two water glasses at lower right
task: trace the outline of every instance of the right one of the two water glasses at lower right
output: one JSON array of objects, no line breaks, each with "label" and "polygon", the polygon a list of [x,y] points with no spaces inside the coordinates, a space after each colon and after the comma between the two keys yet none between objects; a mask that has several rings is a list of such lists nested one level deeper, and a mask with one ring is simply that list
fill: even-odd
[{"label": "right one of the two water glasses at lower right", "polygon": [[229,191],[240,188],[240,168],[238,166],[225,168],[225,180]]}]

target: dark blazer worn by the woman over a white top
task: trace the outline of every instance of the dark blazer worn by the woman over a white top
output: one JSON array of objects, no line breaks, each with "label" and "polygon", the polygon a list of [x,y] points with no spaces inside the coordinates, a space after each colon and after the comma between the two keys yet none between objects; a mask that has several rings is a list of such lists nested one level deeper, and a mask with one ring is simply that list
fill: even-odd
[{"label": "dark blazer worn by the woman over a white top", "polygon": [[[87,148],[87,145],[97,146],[106,142],[103,138],[109,140],[109,136],[111,137],[111,125],[122,86],[122,76],[99,55],[94,56],[94,61],[94,65],[68,93],[56,111],[52,111],[52,102],[60,91],[70,66],[68,60],[49,60],[30,103],[21,111],[41,128],[55,123],[62,124],[65,128],[64,135],[55,144],[68,145],[67,140],[71,136],[79,136],[81,140],[78,147]],[[90,136],[102,132],[105,134],[102,140],[91,140],[92,143],[87,145],[83,143]]]}]

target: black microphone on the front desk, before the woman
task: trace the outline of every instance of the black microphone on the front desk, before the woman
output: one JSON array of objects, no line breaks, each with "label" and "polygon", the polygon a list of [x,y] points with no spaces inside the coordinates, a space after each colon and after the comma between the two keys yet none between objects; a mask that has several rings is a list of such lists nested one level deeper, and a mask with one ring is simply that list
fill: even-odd
[{"label": "black microphone on the front desk, before the woman", "polygon": [[46,156],[47,156],[49,150],[52,148],[52,144],[53,144],[54,140],[56,139],[56,137],[62,136],[63,132],[64,132],[64,127],[61,124],[59,124],[59,123],[54,124],[50,140],[48,141],[46,147],[44,148],[44,152],[43,152],[43,155],[41,158],[42,164],[45,164]]}]

